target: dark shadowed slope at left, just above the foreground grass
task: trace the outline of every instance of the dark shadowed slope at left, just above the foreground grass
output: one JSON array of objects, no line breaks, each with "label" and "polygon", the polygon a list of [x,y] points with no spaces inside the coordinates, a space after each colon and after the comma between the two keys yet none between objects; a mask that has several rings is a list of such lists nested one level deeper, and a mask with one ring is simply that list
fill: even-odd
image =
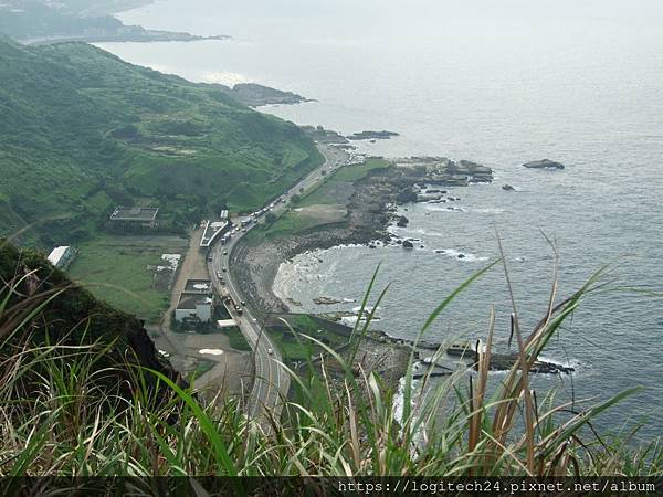
[{"label": "dark shadowed slope at left, just above the foreground grass", "polygon": [[[136,390],[140,368],[180,381],[140,320],[97,300],[41,254],[0,240],[0,303],[7,299],[0,305],[0,358],[44,345],[91,346],[98,352],[97,387],[126,399]],[[157,392],[166,387],[155,374],[145,372],[144,378],[148,390],[165,396],[166,390]]]}]

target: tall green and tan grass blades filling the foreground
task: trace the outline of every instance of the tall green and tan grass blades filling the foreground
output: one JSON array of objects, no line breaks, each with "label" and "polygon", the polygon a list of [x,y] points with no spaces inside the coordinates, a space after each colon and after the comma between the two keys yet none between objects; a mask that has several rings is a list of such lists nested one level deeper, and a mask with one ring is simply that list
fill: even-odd
[{"label": "tall green and tan grass blades filling the foreground", "polygon": [[[471,283],[476,273],[430,315],[418,339]],[[508,273],[507,283],[508,283]],[[373,277],[375,282],[375,277]],[[362,308],[377,307],[383,295]],[[104,394],[95,381],[95,362],[104,350],[61,347],[32,348],[29,340],[12,347],[40,319],[40,306],[8,307],[12,284],[0,293],[0,476],[1,475],[661,475],[663,450],[657,441],[631,447],[630,436],[602,437],[591,423],[636,389],[597,402],[557,403],[529,389],[528,370],[573,315],[581,302],[602,288],[600,272],[577,293],[559,299],[552,285],[550,306],[528,332],[515,340],[519,361],[505,376],[488,376],[494,313],[488,309],[486,348],[476,371],[459,371],[444,381],[413,381],[412,349],[401,391],[383,388],[357,357],[370,318],[354,330],[347,360],[315,337],[340,373],[292,373],[297,392],[282,399],[283,415],[250,420],[244,400],[201,404],[196,392],[160,373],[136,369],[134,395]],[[44,296],[44,299],[56,298]],[[372,318],[372,315],[371,315]],[[440,350],[438,353],[442,353]],[[118,364],[125,368],[125,364]],[[34,371],[41,371],[35,374]],[[158,376],[171,389],[155,398],[141,378]],[[31,382],[25,383],[25,379]],[[494,393],[488,393],[488,383]],[[30,395],[25,392],[30,385]],[[444,413],[443,416],[440,414]]]}]

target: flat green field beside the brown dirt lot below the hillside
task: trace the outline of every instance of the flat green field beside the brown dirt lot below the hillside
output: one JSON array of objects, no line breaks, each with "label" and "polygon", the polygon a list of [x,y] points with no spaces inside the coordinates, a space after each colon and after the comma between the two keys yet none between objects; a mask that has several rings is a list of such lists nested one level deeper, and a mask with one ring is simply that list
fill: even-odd
[{"label": "flat green field beside the brown dirt lot below the hillside", "polygon": [[170,293],[155,287],[147,266],[162,265],[161,254],[186,248],[187,241],[175,236],[102,236],[78,247],[67,273],[96,297],[154,322],[168,309]]}]

